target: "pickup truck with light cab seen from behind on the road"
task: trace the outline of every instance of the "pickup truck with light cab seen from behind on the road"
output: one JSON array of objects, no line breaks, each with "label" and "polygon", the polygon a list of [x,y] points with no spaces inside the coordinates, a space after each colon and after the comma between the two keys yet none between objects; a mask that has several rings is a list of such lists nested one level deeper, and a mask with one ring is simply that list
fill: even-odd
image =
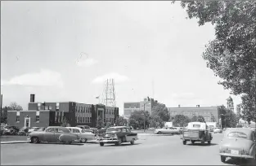
[{"label": "pickup truck with light cab seen from behind on the road", "polygon": [[201,142],[204,145],[204,142],[211,144],[213,139],[212,133],[209,133],[207,130],[206,123],[203,122],[190,122],[187,125],[187,129],[183,131],[182,134],[183,145],[186,145],[186,142],[191,141],[192,144],[195,142]]}]

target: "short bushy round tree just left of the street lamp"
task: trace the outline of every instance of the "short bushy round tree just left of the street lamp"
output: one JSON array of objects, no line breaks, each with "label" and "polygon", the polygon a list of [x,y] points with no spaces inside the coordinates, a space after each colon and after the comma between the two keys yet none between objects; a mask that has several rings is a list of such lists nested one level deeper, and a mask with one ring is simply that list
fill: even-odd
[{"label": "short bushy round tree just left of the street lamp", "polygon": [[145,125],[149,126],[150,124],[150,114],[148,111],[133,111],[130,118],[129,118],[129,124],[134,129],[144,129],[144,120]]}]

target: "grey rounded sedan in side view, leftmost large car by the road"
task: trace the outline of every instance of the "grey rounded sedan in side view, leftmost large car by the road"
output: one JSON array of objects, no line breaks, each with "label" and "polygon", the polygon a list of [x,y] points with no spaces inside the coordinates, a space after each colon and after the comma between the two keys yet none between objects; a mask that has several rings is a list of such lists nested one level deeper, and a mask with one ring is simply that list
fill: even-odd
[{"label": "grey rounded sedan in side view, leftmost large car by the road", "polygon": [[80,142],[78,135],[71,133],[69,129],[60,126],[47,127],[44,131],[29,133],[28,140],[32,143],[39,142],[64,142],[71,144],[72,142]]}]

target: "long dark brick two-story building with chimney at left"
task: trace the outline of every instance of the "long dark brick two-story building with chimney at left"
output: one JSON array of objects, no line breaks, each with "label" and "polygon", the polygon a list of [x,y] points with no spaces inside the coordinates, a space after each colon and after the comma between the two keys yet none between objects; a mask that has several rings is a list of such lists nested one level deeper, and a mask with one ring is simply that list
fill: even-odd
[{"label": "long dark brick two-story building with chimney at left", "polygon": [[47,127],[61,125],[66,121],[70,126],[89,125],[96,127],[97,120],[114,124],[118,116],[118,107],[75,102],[35,103],[34,94],[31,94],[28,110],[8,111],[7,124],[18,127]]}]

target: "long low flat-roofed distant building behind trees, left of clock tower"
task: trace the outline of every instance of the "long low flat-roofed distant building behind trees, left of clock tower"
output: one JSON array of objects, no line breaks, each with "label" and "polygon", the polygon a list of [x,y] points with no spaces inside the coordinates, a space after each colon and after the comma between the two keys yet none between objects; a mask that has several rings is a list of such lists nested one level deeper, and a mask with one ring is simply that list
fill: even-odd
[{"label": "long low flat-roofed distant building behind trees, left of clock tower", "polygon": [[184,115],[189,118],[193,116],[203,116],[205,122],[218,122],[218,106],[216,107],[200,107],[197,105],[196,107],[168,107],[169,114],[171,119],[174,119],[176,115]]}]

